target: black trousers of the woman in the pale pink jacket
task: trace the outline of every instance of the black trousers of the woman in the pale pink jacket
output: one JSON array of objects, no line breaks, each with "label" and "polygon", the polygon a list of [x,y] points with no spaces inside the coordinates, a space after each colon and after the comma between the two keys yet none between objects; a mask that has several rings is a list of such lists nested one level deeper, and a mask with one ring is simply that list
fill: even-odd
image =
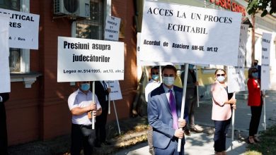
[{"label": "black trousers of the woman in the pale pink jacket", "polygon": [[226,134],[229,130],[231,118],[228,120],[214,120],[214,151],[226,150]]}]

